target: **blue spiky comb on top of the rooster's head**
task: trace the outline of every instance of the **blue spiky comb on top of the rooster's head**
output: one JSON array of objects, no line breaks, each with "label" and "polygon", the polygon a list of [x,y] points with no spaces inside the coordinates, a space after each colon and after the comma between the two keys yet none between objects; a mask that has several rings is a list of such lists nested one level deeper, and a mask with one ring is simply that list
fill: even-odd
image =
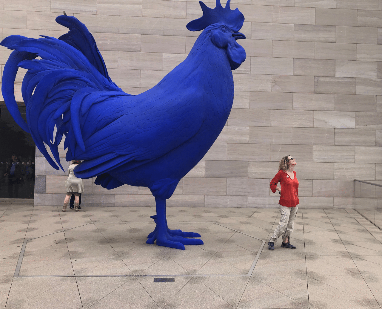
[{"label": "blue spiky comb on top of the rooster's head", "polygon": [[233,31],[238,32],[244,23],[244,15],[238,8],[230,9],[230,0],[227,1],[225,8],[220,4],[220,0],[216,0],[216,7],[209,8],[203,2],[199,1],[203,11],[203,16],[196,20],[190,21],[187,24],[187,29],[190,31],[199,31],[216,23],[223,23],[230,26]]}]

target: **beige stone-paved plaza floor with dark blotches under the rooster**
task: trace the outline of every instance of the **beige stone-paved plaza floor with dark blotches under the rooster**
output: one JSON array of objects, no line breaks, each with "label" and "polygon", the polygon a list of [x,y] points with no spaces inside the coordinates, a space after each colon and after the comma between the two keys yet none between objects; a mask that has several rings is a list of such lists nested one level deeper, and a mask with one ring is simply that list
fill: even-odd
[{"label": "beige stone-paved plaza floor with dark blotches under the rooster", "polygon": [[0,308],[381,308],[382,231],[354,210],[299,209],[273,252],[277,208],[168,207],[202,235],[185,251],[146,244],[154,214],[0,203]]}]

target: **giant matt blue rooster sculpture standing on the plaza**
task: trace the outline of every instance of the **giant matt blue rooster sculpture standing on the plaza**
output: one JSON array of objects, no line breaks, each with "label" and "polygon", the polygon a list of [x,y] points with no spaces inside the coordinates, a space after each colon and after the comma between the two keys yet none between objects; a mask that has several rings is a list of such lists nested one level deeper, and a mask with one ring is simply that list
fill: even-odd
[{"label": "giant matt blue rooster sculpture standing on the plaza", "polygon": [[[147,243],[185,249],[203,244],[198,233],[170,230],[166,200],[176,185],[207,153],[230,114],[233,76],[246,53],[236,40],[244,16],[216,0],[214,9],[199,2],[203,16],[187,24],[204,31],[187,58],[156,86],[136,96],[123,92],[107,73],[95,40],[73,16],[58,16],[70,29],[59,39],[8,36],[13,49],[3,71],[2,93],[15,121],[31,133],[37,148],[62,168],[58,145],[65,135],[66,161],[83,160],[74,173],[97,176],[95,184],[113,189],[124,184],[149,187],[157,224]],[[40,57],[40,59],[36,59]],[[14,81],[18,67],[28,69],[22,83],[25,122],[18,110]],[[57,128],[55,137],[54,129]],[[50,150],[58,164],[50,158]]]}]

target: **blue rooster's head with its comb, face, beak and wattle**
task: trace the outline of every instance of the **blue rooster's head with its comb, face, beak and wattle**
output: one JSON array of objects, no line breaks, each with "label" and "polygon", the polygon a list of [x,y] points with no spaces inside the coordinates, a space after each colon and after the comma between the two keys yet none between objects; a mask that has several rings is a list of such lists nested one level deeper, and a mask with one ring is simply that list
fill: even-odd
[{"label": "blue rooster's head with its comb, face, beak and wattle", "polygon": [[203,16],[187,24],[187,29],[191,31],[200,31],[208,28],[211,33],[212,43],[225,49],[231,70],[240,67],[245,61],[246,53],[236,40],[245,39],[243,33],[238,32],[244,23],[244,15],[238,8],[230,9],[230,0],[223,8],[220,0],[216,0],[214,9],[207,7],[203,2],[199,1],[203,11]]}]

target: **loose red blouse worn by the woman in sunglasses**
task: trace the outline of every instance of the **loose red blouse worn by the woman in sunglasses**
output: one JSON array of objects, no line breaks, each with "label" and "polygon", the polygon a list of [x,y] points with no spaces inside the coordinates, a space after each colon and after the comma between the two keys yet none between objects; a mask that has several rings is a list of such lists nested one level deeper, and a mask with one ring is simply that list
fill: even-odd
[{"label": "loose red blouse worn by the woman in sunglasses", "polygon": [[295,177],[291,179],[288,174],[284,171],[278,171],[278,173],[273,177],[269,186],[273,193],[276,192],[277,183],[280,182],[281,185],[281,195],[278,203],[285,207],[296,207],[299,204],[298,200],[298,180],[296,177],[296,172],[293,171]]}]

